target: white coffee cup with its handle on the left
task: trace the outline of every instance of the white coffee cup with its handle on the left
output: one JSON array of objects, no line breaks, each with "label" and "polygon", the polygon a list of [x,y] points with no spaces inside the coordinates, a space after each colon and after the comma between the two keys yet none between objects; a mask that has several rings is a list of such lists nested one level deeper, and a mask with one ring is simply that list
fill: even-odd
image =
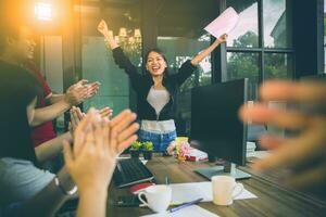
[{"label": "white coffee cup with its handle on the left", "polygon": [[[146,201],[141,197],[146,196]],[[168,186],[156,184],[145,189],[145,191],[138,194],[139,201],[143,205],[150,207],[155,213],[165,212],[171,203],[172,189]]]}]

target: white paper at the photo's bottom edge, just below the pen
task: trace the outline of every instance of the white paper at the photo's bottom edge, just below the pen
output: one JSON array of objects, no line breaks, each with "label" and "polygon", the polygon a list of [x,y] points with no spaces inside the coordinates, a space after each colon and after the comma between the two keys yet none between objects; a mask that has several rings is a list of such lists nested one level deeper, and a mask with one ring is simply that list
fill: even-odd
[{"label": "white paper at the photo's bottom edge, just below the pen", "polygon": [[147,215],[143,217],[185,217],[185,216],[191,216],[191,217],[218,217],[216,214],[213,214],[198,205],[188,206],[186,208],[181,208],[175,213],[163,213],[163,214],[153,214],[153,215]]}]

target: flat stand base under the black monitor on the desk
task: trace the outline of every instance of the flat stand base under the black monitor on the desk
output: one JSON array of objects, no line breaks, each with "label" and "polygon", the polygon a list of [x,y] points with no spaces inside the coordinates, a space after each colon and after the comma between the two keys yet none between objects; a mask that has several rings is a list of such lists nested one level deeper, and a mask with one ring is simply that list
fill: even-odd
[{"label": "flat stand base under the black monitor on the desk", "polygon": [[211,180],[213,176],[231,176],[235,179],[248,179],[250,174],[236,168],[236,164],[226,162],[224,166],[214,166],[203,169],[196,169],[196,173]]}]

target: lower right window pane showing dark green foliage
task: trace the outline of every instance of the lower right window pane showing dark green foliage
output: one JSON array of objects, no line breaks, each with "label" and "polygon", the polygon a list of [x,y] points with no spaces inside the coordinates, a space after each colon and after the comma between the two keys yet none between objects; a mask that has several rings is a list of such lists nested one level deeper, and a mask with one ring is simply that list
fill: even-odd
[{"label": "lower right window pane showing dark green foliage", "polygon": [[292,78],[293,69],[291,54],[266,53],[264,59],[265,80]]}]

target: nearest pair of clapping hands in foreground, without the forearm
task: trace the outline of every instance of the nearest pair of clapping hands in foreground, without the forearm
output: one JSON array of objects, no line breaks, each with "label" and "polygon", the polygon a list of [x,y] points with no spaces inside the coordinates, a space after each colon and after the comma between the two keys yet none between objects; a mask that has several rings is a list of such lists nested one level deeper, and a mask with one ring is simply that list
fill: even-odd
[{"label": "nearest pair of clapping hands in foreground, without the forearm", "polygon": [[80,192],[106,190],[118,154],[137,140],[136,114],[124,111],[110,123],[91,108],[75,131],[73,150],[64,142],[65,165]]}]

